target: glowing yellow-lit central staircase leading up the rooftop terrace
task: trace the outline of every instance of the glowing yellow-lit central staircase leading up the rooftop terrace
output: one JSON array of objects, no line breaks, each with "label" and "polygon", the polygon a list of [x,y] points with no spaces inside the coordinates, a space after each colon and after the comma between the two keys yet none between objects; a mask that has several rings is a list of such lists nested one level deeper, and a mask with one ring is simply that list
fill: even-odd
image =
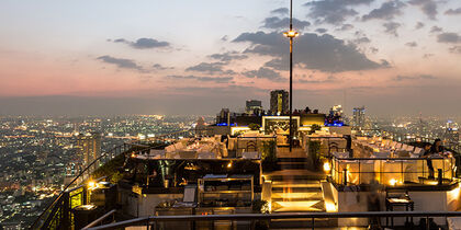
[{"label": "glowing yellow-lit central staircase leading up the rooftop terrace", "polygon": [[[266,174],[266,177],[272,181],[272,212],[326,211],[321,184],[321,181],[326,177],[325,174],[310,170],[312,169],[312,163],[305,153],[302,152],[302,149],[293,150],[293,157],[285,150],[282,150],[278,162],[281,170]],[[335,225],[331,221],[328,219],[315,219],[315,227]],[[272,220],[270,228],[312,228],[312,219]]]}]

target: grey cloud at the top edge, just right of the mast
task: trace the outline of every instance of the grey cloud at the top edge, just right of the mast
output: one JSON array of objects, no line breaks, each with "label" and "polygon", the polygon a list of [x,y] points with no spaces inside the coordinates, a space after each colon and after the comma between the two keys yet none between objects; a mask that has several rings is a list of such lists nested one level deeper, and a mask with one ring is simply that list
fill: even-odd
[{"label": "grey cloud at the top edge, just right of the mast", "polygon": [[310,8],[308,18],[317,23],[341,24],[347,18],[357,15],[358,12],[350,7],[369,4],[374,0],[317,0],[307,2],[304,7]]}]

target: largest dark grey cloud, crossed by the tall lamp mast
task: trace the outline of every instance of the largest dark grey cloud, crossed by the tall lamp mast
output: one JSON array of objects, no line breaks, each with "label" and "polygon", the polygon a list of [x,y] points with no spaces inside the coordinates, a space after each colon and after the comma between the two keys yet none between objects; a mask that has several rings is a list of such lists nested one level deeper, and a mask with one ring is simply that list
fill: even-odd
[{"label": "largest dark grey cloud, crossed by the tall lamp mast", "polygon": [[[288,64],[288,41],[279,33],[243,33],[233,42],[250,43],[251,46],[245,50],[246,54],[273,57],[274,59],[266,64],[267,67]],[[367,70],[382,67],[380,64],[368,59],[355,44],[347,44],[329,34],[301,34],[296,38],[294,53],[294,64],[325,72]]]}]

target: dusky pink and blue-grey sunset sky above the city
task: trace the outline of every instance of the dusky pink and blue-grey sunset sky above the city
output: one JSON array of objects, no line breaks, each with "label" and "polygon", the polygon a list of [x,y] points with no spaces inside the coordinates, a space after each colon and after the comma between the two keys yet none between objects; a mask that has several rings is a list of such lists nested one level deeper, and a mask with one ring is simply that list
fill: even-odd
[{"label": "dusky pink and blue-grey sunset sky above the city", "polygon": [[[461,114],[461,1],[294,0],[294,107]],[[289,88],[288,0],[2,0],[0,115],[215,114]]]}]

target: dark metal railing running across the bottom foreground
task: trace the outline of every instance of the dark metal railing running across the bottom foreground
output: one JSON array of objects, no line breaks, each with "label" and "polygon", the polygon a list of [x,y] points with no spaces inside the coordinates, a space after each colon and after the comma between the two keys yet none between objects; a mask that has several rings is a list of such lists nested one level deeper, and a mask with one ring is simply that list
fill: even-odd
[{"label": "dark metal railing running across the bottom foreground", "polygon": [[[461,217],[461,211],[368,211],[368,212],[295,212],[295,214],[237,214],[237,215],[206,215],[206,216],[150,216],[131,219],[126,221],[109,223],[104,226],[88,228],[88,230],[120,229],[134,226],[145,226],[147,229],[157,229],[161,222],[194,222],[194,221],[258,221],[258,220],[283,220],[299,219],[300,221],[311,220],[311,228],[315,229],[316,219],[340,219],[340,218],[385,218],[385,217],[421,217],[426,219],[426,229],[429,230],[429,217]],[[336,226],[333,226],[336,227]],[[255,229],[251,225],[250,229]]]}]

